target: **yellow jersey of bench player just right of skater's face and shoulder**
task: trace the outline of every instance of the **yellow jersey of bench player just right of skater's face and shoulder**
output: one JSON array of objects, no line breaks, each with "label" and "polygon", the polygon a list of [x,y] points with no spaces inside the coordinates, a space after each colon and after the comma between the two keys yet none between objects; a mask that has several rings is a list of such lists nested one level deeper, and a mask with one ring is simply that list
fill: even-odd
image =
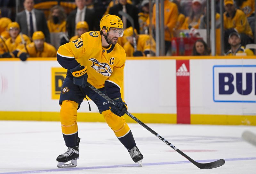
[{"label": "yellow jersey of bench player just right of skater's face and shoulder", "polygon": [[[127,57],[133,56],[134,47],[130,42],[127,41],[124,44],[124,50]],[[137,51],[141,51],[144,54],[145,51],[150,51],[150,50],[153,52],[156,52],[155,40],[151,39],[151,47],[150,47],[150,36],[147,34],[139,34],[139,38],[137,41]]]}]

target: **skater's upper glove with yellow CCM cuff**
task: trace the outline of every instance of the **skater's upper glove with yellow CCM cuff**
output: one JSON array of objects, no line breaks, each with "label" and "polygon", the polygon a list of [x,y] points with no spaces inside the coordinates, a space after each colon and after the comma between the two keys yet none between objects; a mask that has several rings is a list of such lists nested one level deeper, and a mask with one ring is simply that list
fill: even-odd
[{"label": "skater's upper glove with yellow CCM cuff", "polygon": [[70,69],[70,72],[73,75],[73,83],[82,86],[82,88],[85,88],[88,78],[87,67],[81,66],[79,64],[75,68]]}]

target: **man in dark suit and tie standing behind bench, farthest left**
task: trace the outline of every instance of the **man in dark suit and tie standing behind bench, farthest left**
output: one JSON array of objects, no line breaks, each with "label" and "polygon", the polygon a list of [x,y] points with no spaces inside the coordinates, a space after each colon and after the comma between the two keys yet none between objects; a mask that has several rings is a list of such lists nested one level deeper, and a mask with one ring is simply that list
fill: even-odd
[{"label": "man in dark suit and tie standing behind bench, farthest left", "polygon": [[34,0],[24,0],[24,9],[16,16],[16,22],[20,25],[20,31],[32,37],[35,31],[42,31],[45,41],[50,42],[50,33],[47,27],[44,12],[34,9]]}]

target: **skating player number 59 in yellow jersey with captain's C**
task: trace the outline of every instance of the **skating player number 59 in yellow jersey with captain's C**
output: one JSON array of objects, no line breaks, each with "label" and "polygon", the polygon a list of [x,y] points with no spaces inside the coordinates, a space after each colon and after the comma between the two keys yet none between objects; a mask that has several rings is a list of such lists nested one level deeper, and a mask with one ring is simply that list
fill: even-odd
[{"label": "skating player number 59 in yellow jersey with captain's C", "polygon": [[[132,132],[123,117],[127,106],[121,98],[120,86],[124,77],[125,52],[117,44],[123,35],[123,22],[118,16],[105,15],[100,20],[100,32],[87,32],[81,38],[59,47],[57,60],[68,69],[60,93],[60,122],[68,150],[57,157],[59,168],[76,167],[79,158],[79,109],[86,94],[98,106],[108,126],[130,153],[132,160],[142,165],[143,155],[136,146]],[[92,91],[86,84],[112,98],[116,104]],[[68,164],[68,161],[71,161]]]}]

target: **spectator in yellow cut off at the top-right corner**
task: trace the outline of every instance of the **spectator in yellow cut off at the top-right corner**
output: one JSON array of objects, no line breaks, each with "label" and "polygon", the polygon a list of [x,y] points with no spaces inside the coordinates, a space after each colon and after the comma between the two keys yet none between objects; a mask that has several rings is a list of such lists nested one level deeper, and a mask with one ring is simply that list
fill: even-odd
[{"label": "spectator in yellow cut off at the top-right corner", "polygon": [[252,29],[252,33],[255,31],[255,0],[236,0],[236,5],[240,10],[244,11],[249,25]]}]

